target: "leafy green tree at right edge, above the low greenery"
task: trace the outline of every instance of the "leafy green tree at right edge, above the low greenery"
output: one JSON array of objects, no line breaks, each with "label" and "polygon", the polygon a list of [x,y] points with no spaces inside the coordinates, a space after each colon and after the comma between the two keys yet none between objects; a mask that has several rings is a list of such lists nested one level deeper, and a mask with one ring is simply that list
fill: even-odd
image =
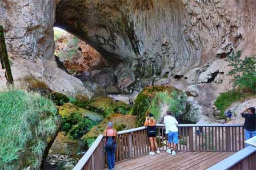
[{"label": "leafy green tree at right edge, above the low greenery", "polygon": [[233,67],[227,75],[233,76],[231,82],[234,82],[234,87],[238,86],[241,89],[256,92],[256,59],[246,56],[242,60],[241,55],[242,52],[238,51],[227,57],[229,66]]}]

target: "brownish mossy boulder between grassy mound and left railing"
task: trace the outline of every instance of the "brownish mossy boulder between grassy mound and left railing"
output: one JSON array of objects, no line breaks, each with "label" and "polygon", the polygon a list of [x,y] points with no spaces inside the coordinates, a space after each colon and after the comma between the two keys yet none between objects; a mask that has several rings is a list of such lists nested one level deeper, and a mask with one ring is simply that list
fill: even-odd
[{"label": "brownish mossy boulder between grassy mound and left railing", "polygon": [[69,155],[69,157],[77,157],[77,154],[83,150],[78,140],[68,138],[66,132],[59,132],[50,148],[49,154]]}]

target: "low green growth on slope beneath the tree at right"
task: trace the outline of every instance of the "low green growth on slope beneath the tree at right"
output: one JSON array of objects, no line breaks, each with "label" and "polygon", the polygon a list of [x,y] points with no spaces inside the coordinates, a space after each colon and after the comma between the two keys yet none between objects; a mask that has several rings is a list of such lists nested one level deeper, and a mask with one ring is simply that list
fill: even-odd
[{"label": "low green growth on slope beneath the tree at right", "polygon": [[233,89],[229,90],[227,92],[221,93],[221,95],[218,96],[216,101],[214,102],[214,105],[221,110],[221,113],[219,114],[219,118],[225,119],[225,113],[224,111],[234,102],[243,101],[246,98],[256,96],[256,93],[250,93],[250,92],[243,92],[242,90]]}]

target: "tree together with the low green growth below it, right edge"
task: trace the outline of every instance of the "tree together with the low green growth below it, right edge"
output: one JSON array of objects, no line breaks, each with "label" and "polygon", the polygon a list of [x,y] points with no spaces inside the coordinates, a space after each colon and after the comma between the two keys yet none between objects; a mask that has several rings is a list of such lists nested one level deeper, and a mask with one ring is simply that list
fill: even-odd
[{"label": "tree together with the low green growth below it, right edge", "polygon": [[234,89],[221,93],[214,103],[221,110],[221,119],[226,118],[224,111],[232,103],[256,96],[256,59],[251,56],[241,59],[241,55],[242,52],[238,51],[227,56],[229,66],[232,67],[227,75],[233,77],[231,82],[234,83]]}]

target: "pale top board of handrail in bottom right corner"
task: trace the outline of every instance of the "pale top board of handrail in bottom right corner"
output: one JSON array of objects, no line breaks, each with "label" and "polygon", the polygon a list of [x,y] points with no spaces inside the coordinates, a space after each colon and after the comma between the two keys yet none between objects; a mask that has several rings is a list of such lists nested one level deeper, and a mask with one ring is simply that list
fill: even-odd
[{"label": "pale top board of handrail in bottom right corner", "polygon": [[225,170],[225,169],[230,169],[234,165],[238,164],[241,162],[243,159],[246,159],[246,157],[249,157],[251,154],[256,152],[256,148],[249,146],[246,148],[243,148],[241,151],[236,152],[235,154],[227,157],[226,159],[223,159],[219,163],[211,166],[207,170]]}]

